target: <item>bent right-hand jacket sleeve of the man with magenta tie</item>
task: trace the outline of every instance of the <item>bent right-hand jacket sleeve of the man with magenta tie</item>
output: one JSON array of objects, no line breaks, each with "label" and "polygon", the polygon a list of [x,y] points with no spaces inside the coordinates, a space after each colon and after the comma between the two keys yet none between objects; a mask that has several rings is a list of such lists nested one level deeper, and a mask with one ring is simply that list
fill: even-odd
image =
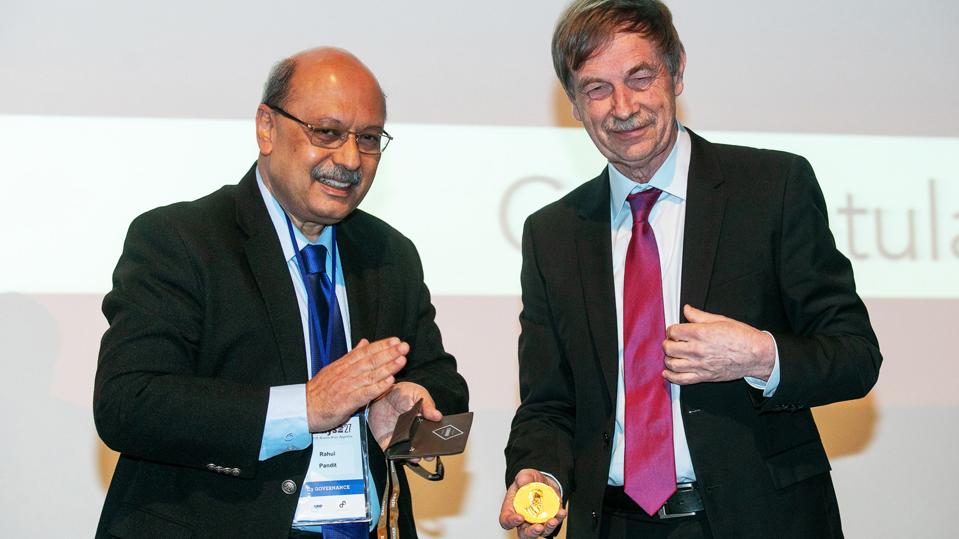
[{"label": "bent right-hand jacket sleeve of the man with magenta tie", "polygon": [[826,202],[806,159],[786,176],[777,262],[791,332],[771,332],[781,381],[762,411],[800,410],[861,398],[876,384],[882,356],[853,268],[835,246]]}]

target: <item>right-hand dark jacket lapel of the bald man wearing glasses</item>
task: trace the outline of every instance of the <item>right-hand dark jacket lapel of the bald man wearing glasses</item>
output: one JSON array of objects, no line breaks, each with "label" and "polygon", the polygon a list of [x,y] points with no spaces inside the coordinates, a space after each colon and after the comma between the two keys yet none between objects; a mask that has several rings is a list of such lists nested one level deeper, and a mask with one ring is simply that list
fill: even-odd
[{"label": "right-hand dark jacket lapel of the bald man wearing glasses", "polygon": [[371,260],[376,260],[375,253],[367,252],[368,247],[364,247],[356,217],[351,215],[337,225],[337,247],[342,257],[353,345],[361,339],[377,339],[380,297],[380,272],[371,264]]}]

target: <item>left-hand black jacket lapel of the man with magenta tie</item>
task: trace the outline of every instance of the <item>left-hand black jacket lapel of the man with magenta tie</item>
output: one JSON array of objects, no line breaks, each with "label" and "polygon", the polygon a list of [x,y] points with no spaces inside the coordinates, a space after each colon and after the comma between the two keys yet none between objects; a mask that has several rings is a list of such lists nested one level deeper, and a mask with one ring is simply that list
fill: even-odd
[{"label": "left-hand black jacket lapel of the man with magenta tie", "polygon": [[576,227],[576,258],[586,303],[590,335],[596,345],[599,366],[616,402],[619,378],[617,348],[616,292],[613,286],[613,240],[609,217],[609,173],[591,181],[591,188],[579,207]]}]

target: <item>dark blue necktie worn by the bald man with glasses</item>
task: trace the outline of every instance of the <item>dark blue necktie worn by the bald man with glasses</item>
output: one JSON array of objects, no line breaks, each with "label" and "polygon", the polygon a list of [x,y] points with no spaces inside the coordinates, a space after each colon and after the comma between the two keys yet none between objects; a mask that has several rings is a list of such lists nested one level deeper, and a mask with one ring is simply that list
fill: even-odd
[{"label": "dark blue necktie worn by the bald man with glasses", "polygon": [[[319,369],[326,366],[320,348],[330,340],[329,361],[335,362],[346,355],[346,333],[343,331],[343,317],[339,314],[337,291],[326,275],[326,246],[303,247],[303,264],[306,266],[306,282],[313,293],[314,306],[310,310],[310,371],[311,378]],[[316,308],[314,316],[313,309]],[[333,317],[333,331],[330,317]],[[319,318],[319,328],[315,320]],[[369,539],[369,525],[365,522],[327,524],[323,526],[323,539]]]}]

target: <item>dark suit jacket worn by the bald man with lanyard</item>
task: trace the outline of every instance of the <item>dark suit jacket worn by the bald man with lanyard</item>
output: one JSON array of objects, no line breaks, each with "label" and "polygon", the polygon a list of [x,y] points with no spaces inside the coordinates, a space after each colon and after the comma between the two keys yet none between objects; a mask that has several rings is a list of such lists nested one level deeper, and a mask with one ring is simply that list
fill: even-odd
[{"label": "dark suit jacket worn by the bald man with lanyard", "polygon": [[[466,384],[443,350],[415,247],[359,210],[337,232],[353,342],[406,340],[397,381],[426,387],[445,413],[465,411]],[[97,537],[288,537],[311,451],[258,455],[269,387],[306,383],[306,351],[254,169],[130,224],[104,314],[93,410],[121,456]],[[382,496],[385,460],[367,437]],[[296,483],[292,495],[285,480]],[[415,537],[404,492],[400,527]]]}]

